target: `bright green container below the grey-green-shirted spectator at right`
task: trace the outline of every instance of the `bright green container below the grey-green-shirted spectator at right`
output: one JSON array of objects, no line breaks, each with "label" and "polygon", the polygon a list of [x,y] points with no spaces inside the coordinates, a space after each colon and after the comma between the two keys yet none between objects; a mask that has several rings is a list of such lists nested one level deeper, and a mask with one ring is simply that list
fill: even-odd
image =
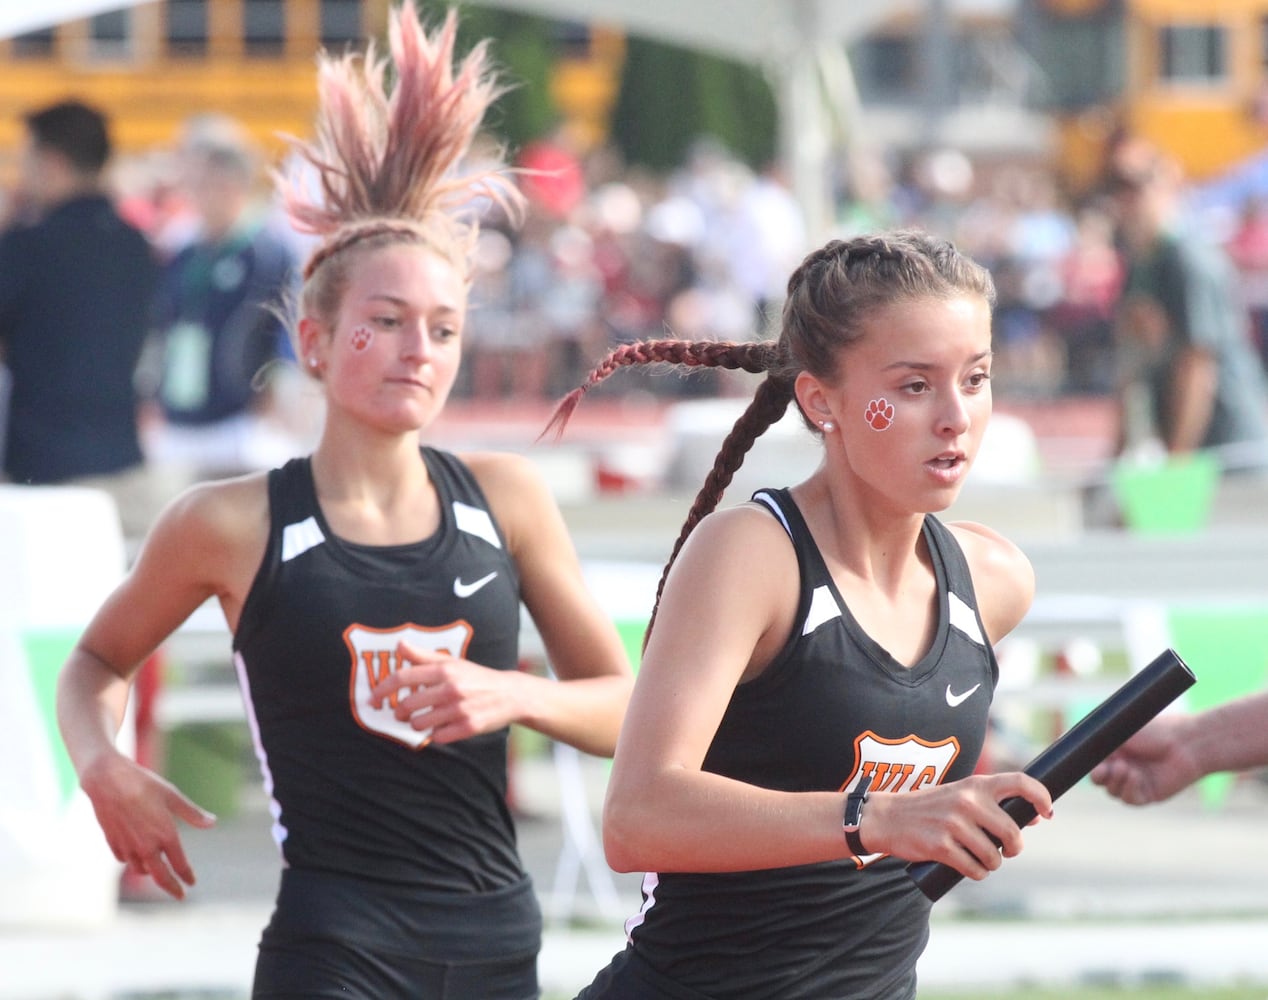
[{"label": "bright green container below the grey-green-shirted spectator at right", "polygon": [[1120,463],[1111,483],[1129,530],[1141,535],[1192,535],[1211,517],[1220,463],[1205,451],[1158,464]]}]

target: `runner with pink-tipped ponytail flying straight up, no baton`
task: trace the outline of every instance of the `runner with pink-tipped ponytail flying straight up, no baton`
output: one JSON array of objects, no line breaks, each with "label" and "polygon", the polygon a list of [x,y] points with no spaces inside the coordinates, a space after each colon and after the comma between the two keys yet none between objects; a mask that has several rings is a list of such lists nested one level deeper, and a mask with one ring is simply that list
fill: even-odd
[{"label": "runner with pink-tipped ponytail flying straight up, no baton", "polygon": [[[563,517],[519,455],[424,442],[462,360],[470,252],[498,162],[464,161],[500,85],[456,19],[393,11],[388,58],[323,56],[318,237],[292,331],[325,414],[311,455],[200,483],[160,516],[67,662],[58,717],[115,856],[174,896],[179,824],[208,826],[114,748],[141,662],[216,599],[232,632],[283,862],[252,996],[530,1000],[541,913],[507,804],[512,724],[611,754],[630,667]],[[520,611],[553,677],[520,669]]]}]

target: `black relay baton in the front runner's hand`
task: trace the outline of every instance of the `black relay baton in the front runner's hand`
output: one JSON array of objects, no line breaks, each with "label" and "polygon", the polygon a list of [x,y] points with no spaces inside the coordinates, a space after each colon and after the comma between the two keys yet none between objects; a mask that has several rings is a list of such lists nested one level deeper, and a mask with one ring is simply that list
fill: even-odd
[{"label": "black relay baton in the front runner's hand", "polygon": [[[1194,683],[1197,678],[1175,650],[1164,650],[1031,760],[1025,772],[1038,779],[1055,801]],[[999,805],[1018,826],[1037,815],[1035,806],[1021,796]],[[935,902],[964,878],[940,861],[912,862],[907,873]]]}]

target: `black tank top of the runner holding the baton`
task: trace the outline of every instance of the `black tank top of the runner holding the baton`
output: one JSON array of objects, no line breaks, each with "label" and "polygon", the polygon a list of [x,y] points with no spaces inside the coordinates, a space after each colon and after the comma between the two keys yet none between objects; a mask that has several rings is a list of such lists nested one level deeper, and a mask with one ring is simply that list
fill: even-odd
[{"label": "black tank top of the runner holding the baton", "polygon": [[[937,518],[923,536],[938,624],[912,667],[870,639],[837,591],[786,489],[753,499],[780,518],[800,568],[798,626],[739,686],[705,771],[786,791],[909,791],[970,774],[998,667],[969,567]],[[724,838],[725,830],[718,837]],[[635,967],[683,997],[898,1000],[915,996],[929,902],[888,856],[721,875],[648,873],[626,924]]]}]

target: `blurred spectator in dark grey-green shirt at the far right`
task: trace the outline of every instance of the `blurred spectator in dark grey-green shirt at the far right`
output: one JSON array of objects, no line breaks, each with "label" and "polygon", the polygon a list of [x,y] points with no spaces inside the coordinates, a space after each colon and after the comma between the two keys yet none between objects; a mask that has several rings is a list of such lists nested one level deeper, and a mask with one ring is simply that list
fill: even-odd
[{"label": "blurred spectator in dark grey-green shirt at the far right", "polygon": [[1129,138],[1108,180],[1127,259],[1116,316],[1120,451],[1155,439],[1169,455],[1219,447],[1227,469],[1268,464],[1268,387],[1238,275],[1219,247],[1179,231],[1179,166]]}]

